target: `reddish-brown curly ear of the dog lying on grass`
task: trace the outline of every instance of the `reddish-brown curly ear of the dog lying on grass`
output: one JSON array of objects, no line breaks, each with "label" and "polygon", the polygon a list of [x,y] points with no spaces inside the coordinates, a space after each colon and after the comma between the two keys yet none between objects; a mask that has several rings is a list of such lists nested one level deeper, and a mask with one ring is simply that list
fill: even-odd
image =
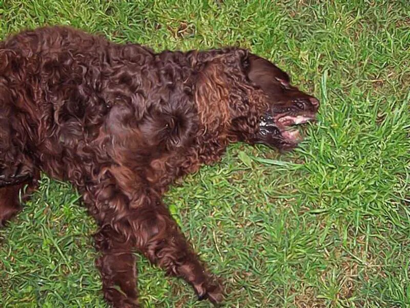
[{"label": "reddish-brown curly ear of the dog lying on grass", "polygon": [[262,90],[255,89],[247,75],[249,52],[227,50],[202,63],[195,91],[201,122],[214,131],[232,130],[239,122],[254,131],[268,106]]}]

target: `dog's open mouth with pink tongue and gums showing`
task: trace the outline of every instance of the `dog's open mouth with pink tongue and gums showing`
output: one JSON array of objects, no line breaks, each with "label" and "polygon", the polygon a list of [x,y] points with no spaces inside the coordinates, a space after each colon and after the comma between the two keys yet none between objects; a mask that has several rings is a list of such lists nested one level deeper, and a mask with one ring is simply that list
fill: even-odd
[{"label": "dog's open mouth with pink tongue and gums showing", "polygon": [[270,114],[261,117],[259,122],[259,134],[262,143],[275,145],[279,148],[295,147],[302,136],[297,125],[315,121],[314,113],[303,114]]}]

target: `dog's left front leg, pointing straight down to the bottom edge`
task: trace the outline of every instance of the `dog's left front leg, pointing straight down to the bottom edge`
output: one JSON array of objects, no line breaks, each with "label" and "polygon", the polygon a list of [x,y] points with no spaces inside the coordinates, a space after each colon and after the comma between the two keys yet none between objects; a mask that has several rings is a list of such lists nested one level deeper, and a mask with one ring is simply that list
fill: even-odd
[{"label": "dog's left front leg, pointing straight down to the bottom edge", "polygon": [[129,199],[110,180],[89,185],[83,191],[84,202],[100,226],[94,240],[101,255],[95,263],[103,281],[104,298],[115,308],[136,308],[135,240],[130,236],[133,232],[129,224],[122,221],[129,215]]}]

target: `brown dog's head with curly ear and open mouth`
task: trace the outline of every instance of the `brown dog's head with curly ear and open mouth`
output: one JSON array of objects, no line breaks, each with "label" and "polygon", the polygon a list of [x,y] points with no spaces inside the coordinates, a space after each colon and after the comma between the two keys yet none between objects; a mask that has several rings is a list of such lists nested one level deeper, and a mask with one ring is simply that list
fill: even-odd
[{"label": "brown dog's head with curly ear and open mouth", "polygon": [[274,64],[245,50],[202,55],[211,60],[198,61],[195,100],[207,128],[226,131],[233,141],[280,149],[297,145],[301,137],[293,126],[315,119],[316,98],[292,86],[289,75]]}]

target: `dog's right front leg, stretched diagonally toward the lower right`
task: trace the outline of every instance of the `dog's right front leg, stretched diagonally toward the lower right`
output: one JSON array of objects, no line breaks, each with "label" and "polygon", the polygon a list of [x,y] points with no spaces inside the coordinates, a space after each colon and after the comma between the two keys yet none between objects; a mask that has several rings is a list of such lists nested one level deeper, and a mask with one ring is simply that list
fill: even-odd
[{"label": "dog's right front leg, stretched diagonally toward the lower right", "polygon": [[165,269],[168,275],[186,280],[199,299],[222,301],[219,284],[204,269],[160,200],[138,206],[127,220],[134,230],[137,248],[153,264]]}]

